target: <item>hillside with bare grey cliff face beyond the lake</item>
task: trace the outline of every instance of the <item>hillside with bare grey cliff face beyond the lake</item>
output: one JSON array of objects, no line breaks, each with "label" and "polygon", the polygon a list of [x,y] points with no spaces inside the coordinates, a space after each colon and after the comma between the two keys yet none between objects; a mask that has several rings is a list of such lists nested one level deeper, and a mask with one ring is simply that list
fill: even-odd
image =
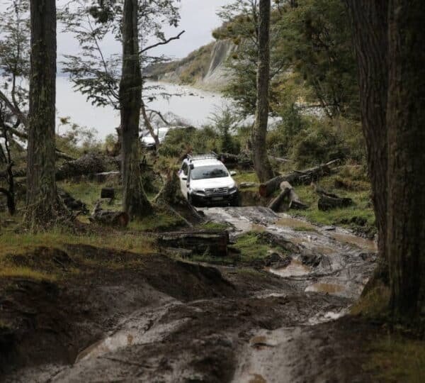
[{"label": "hillside with bare grey cliff face beyond the lake", "polygon": [[204,45],[181,60],[151,65],[145,70],[145,75],[158,81],[222,89],[229,77],[225,61],[234,49],[235,45],[230,40],[219,40]]}]

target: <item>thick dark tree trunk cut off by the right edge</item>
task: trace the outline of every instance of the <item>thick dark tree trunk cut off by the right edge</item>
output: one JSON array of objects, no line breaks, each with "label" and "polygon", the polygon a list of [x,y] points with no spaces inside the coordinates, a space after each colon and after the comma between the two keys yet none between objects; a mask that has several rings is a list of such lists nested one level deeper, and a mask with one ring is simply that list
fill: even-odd
[{"label": "thick dark tree trunk cut off by the right edge", "polygon": [[[425,326],[425,7],[390,1],[387,250],[396,317]],[[423,327],[424,328],[424,327]]]}]

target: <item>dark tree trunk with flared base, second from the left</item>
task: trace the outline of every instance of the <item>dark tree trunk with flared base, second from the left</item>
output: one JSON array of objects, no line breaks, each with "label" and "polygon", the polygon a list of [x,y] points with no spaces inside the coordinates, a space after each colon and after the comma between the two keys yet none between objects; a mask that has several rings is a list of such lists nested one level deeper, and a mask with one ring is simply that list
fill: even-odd
[{"label": "dark tree trunk with flared base, second from the left", "polygon": [[142,104],[137,27],[137,0],[125,0],[123,9],[123,73],[120,82],[120,113],[123,153],[123,209],[130,218],[152,211],[142,184],[139,123]]}]

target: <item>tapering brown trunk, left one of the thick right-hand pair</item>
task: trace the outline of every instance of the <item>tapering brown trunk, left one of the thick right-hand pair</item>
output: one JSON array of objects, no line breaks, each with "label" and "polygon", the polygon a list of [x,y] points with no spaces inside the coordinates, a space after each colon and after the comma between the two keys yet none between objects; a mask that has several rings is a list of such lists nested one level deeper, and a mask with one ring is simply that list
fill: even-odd
[{"label": "tapering brown trunk, left one of the thick right-hand pair", "polygon": [[[353,24],[361,118],[368,147],[378,250],[386,265],[388,0],[345,0]],[[385,266],[386,267],[386,266]]]}]

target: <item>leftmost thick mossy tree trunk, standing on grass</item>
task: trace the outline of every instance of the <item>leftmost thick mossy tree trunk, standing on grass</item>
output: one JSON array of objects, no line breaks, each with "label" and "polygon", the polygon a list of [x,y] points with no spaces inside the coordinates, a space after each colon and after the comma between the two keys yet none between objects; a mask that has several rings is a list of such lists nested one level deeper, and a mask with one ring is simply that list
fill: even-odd
[{"label": "leftmost thick mossy tree trunk, standing on grass", "polygon": [[30,1],[31,70],[27,213],[31,227],[57,217],[55,184],[56,2]]}]

